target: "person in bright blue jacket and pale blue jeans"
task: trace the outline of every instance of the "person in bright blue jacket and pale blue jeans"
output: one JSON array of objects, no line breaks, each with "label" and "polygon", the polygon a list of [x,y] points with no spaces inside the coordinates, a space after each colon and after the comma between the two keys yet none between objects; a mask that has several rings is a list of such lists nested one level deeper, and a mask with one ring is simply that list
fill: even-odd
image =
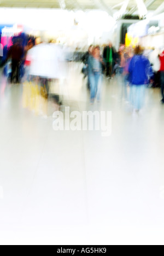
[{"label": "person in bright blue jacket and pale blue jeans", "polygon": [[128,67],[131,78],[131,103],[136,112],[143,107],[145,85],[150,79],[150,66],[147,57],[142,55],[140,46],[137,46]]}]

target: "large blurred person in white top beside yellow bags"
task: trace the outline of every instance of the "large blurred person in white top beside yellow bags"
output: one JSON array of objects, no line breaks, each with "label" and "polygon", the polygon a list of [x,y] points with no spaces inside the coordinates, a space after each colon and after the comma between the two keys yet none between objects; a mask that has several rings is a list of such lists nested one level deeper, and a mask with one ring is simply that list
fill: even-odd
[{"label": "large blurred person in white top beside yellow bags", "polygon": [[[29,77],[32,85],[31,109],[36,114],[48,117],[48,98],[54,103],[54,109],[60,107],[60,79],[63,53],[54,43],[40,43],[28,50],[26,60],[30,61]],[[25,89],[28,88],[28,84]],[[26,90],[25,90],[26,91]],[[24,104],[26,107],[28,104]]]}]

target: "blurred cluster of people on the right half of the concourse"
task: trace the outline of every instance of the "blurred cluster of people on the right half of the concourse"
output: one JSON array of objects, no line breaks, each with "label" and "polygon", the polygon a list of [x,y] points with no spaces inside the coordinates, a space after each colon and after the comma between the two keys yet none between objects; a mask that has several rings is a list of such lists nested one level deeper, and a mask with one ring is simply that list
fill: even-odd
[{"label": "blurred cluster of people on the right half of the concourse", "polygon": [[[112,43],[102,51],[99,46],[89,46],[83,56],[82,72],[87,76],[87,88],[90,90],[91,103],[100,99],[102,77],[116,77],[121,87],[121,97],[129,102],[137,112],[143,107],[145,87],[161,88],[164,103],[164,52],[156,49],[149,54],[139,45],[125,47],[121,45],[116,52]],[[127,90],[129,88],[129,90]]]}]

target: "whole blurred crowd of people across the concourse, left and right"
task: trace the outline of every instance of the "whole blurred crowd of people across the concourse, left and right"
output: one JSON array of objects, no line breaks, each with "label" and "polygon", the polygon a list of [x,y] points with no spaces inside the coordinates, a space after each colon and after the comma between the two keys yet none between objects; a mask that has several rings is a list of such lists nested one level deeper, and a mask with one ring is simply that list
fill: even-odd
[{"label": "whole blurred crowd of people across the concourse, left and right", "polygon": [[[48,98],[57,107],[61,105],[58,88],[65,61],[68,61],[61,45],[54,41],[35,45],[33,40],[29,40],[23,47],[21,40],[17,39],[10,49],[4,49],[2,65],[7,65],[9,60],[10,82],[24,82],[24,107],[40,109],[40,106],[44,105],[42,112],[46,115]],[[90,45],[82,61],[82,72],[84,78],[87,77],[91,104],[95,100],[101,100],[103,77],[106,77],[107,81],[115,77],[121,88],[121,98],[130,103],[136,111],[143,107],[145,87],[150,84],[154,88],[161,88],[161,102],[164,103],[164,52],[152,49],[148,53],[140,46],[132,48],[125,45],[121,45],[116,52],[109,42],[103,48]],[[21,66],[25,68],[23,75]],[[36,112],[38,113],[38,110]]]}]

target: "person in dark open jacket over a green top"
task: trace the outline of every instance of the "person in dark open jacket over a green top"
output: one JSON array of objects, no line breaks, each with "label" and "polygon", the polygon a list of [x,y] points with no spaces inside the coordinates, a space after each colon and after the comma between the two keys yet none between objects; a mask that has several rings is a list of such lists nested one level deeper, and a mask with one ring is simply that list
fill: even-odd
[{"label": "person in dark open jacket over a green top", "polygon": [[112,43],[109,43],[109,45],[107,45],[103,51],[103,59],[106,62],[106,76],[109,78],[111,78],[113,75],[113,68],[115,65],[115,56],[116,56],[116,51]]}]

